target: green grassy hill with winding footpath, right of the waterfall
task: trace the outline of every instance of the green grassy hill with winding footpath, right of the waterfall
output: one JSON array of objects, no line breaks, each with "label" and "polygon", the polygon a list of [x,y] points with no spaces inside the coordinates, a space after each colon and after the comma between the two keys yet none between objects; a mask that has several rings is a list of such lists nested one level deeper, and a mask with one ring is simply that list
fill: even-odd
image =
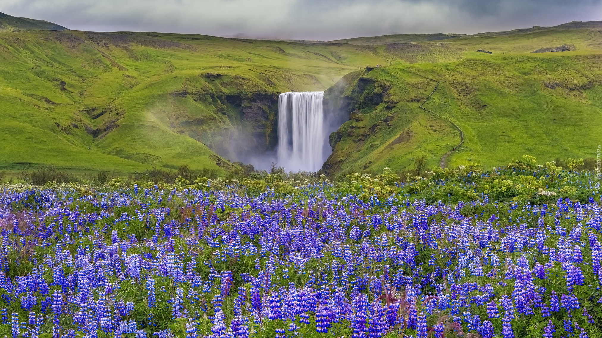
[{"label": "green grassy hill with winding footpath, right of the waterfall", "polygon": [[[422,155],[429,166],[437,165],[459,143],[452,123],[465,139],[447,158],[452,166],[478,162],[491,168],[524,154],[548,160],[595,156],[602,143],[602,33],[597,29],[477,35],[442,43],[462,58],[397,61],[347,76],[338,84],[342,88],[329,90],[329,100],[352,112],[352,118],[332,135],[336,144],[324,170],[399,170]],[[566,43],[576,51],[532,53]],[[437,49],[430,51],[437,56]],[[437,81],[438,89],[424,103],[427,110],[420,109]]]}]

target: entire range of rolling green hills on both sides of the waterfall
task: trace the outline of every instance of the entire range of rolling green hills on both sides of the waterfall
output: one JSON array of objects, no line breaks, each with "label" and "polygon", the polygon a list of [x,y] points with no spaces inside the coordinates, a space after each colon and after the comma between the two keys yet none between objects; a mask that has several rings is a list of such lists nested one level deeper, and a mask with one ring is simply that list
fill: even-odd
[{"label": "entire range of rolling green hills on both sides of the waterfall", "polygon": [[329,112],[350,114],[332,135],[328,173],[399,170],[423,154],[438,164],[459,142],[452,122],[465,143],[450,165],[592,156],[602,28],[568,25],[412,43],[0,32],[0,170],[231,170],[276,146],[279,93],[327,88]]}]

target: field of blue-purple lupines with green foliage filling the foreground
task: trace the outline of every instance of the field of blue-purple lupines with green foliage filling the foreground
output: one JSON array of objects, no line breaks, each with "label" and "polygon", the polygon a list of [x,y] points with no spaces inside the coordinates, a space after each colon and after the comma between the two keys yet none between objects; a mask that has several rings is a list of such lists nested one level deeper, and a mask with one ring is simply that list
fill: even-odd
[{"label": "field of blue-purple lupines with green foliage filling the foreground", "polygon": [[5,185],[0,334],[602,337],[602,200],[576,165]]}]

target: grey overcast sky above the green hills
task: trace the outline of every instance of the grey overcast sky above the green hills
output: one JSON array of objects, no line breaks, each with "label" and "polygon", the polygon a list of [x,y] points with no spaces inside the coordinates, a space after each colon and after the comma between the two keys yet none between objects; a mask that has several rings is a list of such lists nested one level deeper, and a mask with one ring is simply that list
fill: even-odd
[{"label": "grey overcast sky above the green hills", "polygon": [[0,11],[85,31],[326,41],[602,20],[602,0],[0,0]]}]

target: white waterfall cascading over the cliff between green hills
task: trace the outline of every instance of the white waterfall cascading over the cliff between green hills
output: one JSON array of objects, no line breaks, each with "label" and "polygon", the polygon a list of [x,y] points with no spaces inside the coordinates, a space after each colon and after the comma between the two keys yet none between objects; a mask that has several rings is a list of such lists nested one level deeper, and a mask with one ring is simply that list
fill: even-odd
[{"label": "white waterfall cascading over the cliff between green hills", "polygon": [[278,97],[278,165],[287,171],[318,171],[328,156],[323,91]]}]

